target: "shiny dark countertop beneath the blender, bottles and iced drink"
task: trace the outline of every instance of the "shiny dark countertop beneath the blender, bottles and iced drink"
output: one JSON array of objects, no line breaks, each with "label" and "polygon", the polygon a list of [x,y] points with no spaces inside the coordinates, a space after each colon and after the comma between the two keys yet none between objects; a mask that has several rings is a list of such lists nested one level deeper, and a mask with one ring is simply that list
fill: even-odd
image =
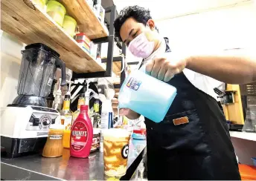
[{"label": "shiny dark countertop beneath the blender, bottles and iced drink", "polygon": [[[129,143],[127,174],[121,180],[129,180],[144,155],[145,140],[132,139]],[[90,154],[89,159],[70,157],[69,149],[63,157],[45,158],[39,154],[13,159],[1,158],[3,180],[106,180],[103,153]]]}]

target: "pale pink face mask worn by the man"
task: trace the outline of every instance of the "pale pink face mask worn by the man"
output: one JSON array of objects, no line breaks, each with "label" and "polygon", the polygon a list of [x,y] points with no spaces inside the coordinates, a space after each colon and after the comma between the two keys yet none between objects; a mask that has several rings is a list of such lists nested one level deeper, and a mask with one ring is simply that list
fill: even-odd
[{"label": "pale pink face mask worn by the man", "polygon": [[155,42],[150,42],[147,36],[141,33],[129,43],[128,49],[134,56],[145,59],[153,53],[154,46]]}]

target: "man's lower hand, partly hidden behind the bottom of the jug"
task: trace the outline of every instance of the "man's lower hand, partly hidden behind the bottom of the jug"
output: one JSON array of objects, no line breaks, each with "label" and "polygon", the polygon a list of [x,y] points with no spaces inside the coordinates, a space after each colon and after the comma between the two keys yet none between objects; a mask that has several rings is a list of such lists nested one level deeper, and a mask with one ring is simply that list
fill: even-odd
[{"label": "man's lower hand, partly hidden behind the bottom of the jug", "polygon": [[[115,115],[118,115],[118,95],[119,93],[115,93],[115,97],[112,99],[112,108]],[[138,119],[140,115],[129,108],[121,108],[119,110],[119,116],[127,116],[129,119]]]}]

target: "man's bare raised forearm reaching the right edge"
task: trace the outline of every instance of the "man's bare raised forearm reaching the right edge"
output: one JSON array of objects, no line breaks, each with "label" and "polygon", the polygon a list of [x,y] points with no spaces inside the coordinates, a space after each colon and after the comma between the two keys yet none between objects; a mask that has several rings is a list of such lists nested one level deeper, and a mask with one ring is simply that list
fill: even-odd
[{"label": "man's bare raised forearm reaching the right edge", "polygon": [[191,56],[186,68],[229,84],[256,81],[255,53],[245,50],[228,50],[217,55]]}]

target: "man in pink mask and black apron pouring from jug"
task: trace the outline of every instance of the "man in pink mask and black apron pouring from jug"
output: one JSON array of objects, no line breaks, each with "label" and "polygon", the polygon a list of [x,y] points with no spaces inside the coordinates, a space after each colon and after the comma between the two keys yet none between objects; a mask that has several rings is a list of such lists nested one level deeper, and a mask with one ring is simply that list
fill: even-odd
[{"label": "man in pink mask and black apron pouring from jug", "polygon": [[[242,51],[217,56],[167,53],[167,39],[159,36],[150,11],[138,6],[122,10],[114,25],[115,36],[143,58],[147,73],[177,89],[162,122],[145,118],[148,179],[240,180],[225,117],[208,82],[256,81],[253,56],[240,56]],[[116,112],[118,100],[112,103]],[[129,109],[120,113],[129,119],[140,116]]]}]

